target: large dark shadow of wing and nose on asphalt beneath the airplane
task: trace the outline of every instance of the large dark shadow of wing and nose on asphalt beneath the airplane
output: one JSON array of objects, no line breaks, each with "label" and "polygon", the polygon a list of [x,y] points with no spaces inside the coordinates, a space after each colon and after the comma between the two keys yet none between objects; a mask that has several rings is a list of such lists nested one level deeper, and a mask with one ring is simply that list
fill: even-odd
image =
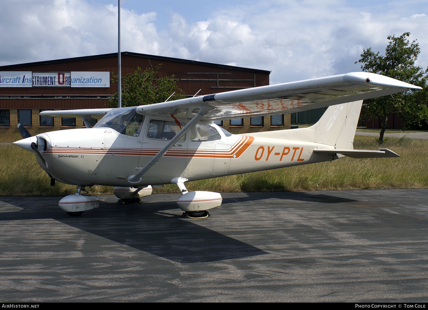
[{"label": "large dark shadow of wing and nose on asphalt beneath the airplane", "polygon": [[197,221],[201,220],[183,220],[181,216],[162,212],[177,209],[175,201],[142,205],[117,205],[101,201],[98,209],[74,218],[59,209],[59,199],[2,197],[1,201],[24,210],[1,213],[0,220],[53,218],[80,230],[178,263],[203,263],[268,253],[202,227],[197,224]]}]

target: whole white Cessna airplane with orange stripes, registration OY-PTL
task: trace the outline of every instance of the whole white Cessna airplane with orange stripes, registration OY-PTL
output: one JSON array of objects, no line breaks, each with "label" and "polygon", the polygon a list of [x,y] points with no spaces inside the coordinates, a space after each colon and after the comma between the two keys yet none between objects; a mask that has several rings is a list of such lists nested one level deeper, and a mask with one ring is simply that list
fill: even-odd
[{"label": "whole white Cessna airplane with orange stripes, registration OY-PTL", "polygon": [[[77,185],[59,201],[71,216],[98,207],[86,186],[116,186],[125,203],[140,201],[152,186],[175,183],[177,204],[189,217],[208,216],[221,205],[214,192],[188,192],[184,182],[231,174],[353,158],[399,157],[379,148],[355,150],[353,140],[363,99],[420,89],[389,77],[354,72],[241,89],[219,94],[116,109],[44,111],[51,117],[81,117],[87,128],[59,130],[14,142],[36,154],[55,180]],[[232,135],[215,120],[291,114],[329,106],[308,128]],[[101,119],[100,119],[101,118]],[[100,119],[91,128],[89,121]]]}]

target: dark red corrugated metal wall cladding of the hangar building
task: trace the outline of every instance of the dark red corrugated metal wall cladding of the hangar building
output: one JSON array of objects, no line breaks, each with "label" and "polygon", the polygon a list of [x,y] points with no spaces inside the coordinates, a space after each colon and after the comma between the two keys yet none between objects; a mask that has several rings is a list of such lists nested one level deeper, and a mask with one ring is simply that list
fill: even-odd
[{"label": "dark red corrugated metal wall cladding of the hangar building", "polygon": [[[155,78],[172,77],[179,79],[177,86],[187,95],[215,94],[235,89],[269,85],[269,74],[261,70],[244,71],[232,68],[220,68],[216,65],[171,61],[142,56],[122,55],[122,75],[133,73],[137,67],[156,68],[160,66]],[[0,71],[33,72],[69,72],[69,71],[109,71],[117,74],[117,56],[69,60],[41,65],[1,68]],[[251,69],[248,69],[251,70]],[[265,71],[266,72],[266,71]],[[189,74],[192,73],[192,74]],[[207,74],[210,73],[210,74]],[[111,77],[111,74],[110,74]],[[24,98],[33,95],[113,95],[117,92],[117,83],[110,88],[71,88],[71,87],[19,87],[0,88],[0,96],[22,96],[22,98],[0,98],[0,109],[76,109],[103,108],[107,100],[103,98]]]}]

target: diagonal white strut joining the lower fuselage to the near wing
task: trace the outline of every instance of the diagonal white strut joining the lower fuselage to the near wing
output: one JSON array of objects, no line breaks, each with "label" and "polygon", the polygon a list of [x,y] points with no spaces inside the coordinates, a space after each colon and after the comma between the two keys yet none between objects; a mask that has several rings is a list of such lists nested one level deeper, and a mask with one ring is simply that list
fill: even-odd
[{"label": "diagonal white strut joining the lower fuselage to the near wing", "polygon": [[188,123],[186,126],[183,127],[183,129],[181,129],[175,136],[174,138],[171,139],[171,141],[169,141],[163,148],[162,150],[159,151],[158,154],[156,154],[152,159],[149,160],[149,162],[143,167],[143,169],[141,169],[140,171],[138,171],[137,174],[132,174],[128,177],[128,182],[135,184],[135,183],[140,183],[143,178],[143,174],[145,174],[147,171],[149,171],[150,168],[152,168],[153,165],[155,165],[156,162],[159,161],[159,159],[165,155],[165,153],[167,151],[169,151],[170,148],[172,148],[173,145],[175,145],[176,142],[178,142],[178,140],[181,139],[182,136],[184,136],[185,133],[187,133],[187,131],[190,130],[190,128],[192,128],[193,126],[196,125],[196,123],[203,118],[205,115],[207,115],[209,112],[211,112],[212,110],[214,110],[215,108],[212,106],[201,106],[201,109],[199,110],[198,114],[196,114]]}]

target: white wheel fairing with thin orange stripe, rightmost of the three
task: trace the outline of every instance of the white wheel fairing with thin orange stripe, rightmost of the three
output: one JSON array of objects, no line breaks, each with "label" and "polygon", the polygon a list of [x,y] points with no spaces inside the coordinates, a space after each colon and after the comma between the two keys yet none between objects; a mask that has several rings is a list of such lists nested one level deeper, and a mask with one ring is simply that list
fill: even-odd
[{"label": "white wheel fairing with thin orange stripe, rightmost of the three", "polygon": [[197,212],[220,207],[222,201],[220,193],[195,191],[182,195],[177,204],[184,212]]}]

